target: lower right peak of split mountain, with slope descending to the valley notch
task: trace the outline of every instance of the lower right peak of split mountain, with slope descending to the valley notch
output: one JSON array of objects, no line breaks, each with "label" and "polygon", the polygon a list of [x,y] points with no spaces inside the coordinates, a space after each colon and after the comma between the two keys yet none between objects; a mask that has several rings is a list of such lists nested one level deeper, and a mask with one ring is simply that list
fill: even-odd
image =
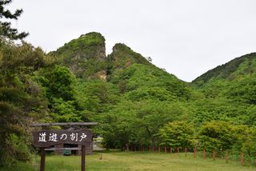
[{"label": "lower right peak of split mountain, with slope descending to the valley notch", "polygon": [[159,69],[130,47],[118,43],[107,56],[108,82],[129,93],[130,99],[156,98],[160,101],[190,98],[189,86]]}]

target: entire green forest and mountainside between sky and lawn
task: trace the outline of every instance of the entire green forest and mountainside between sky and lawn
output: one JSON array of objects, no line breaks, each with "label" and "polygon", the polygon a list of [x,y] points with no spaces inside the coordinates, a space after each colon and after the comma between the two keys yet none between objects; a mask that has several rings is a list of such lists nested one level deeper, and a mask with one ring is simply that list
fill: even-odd
[{"label": "entire green forest and mountainside between sky and lawn", "polygon": [[[21,13],[0,9],[1,18]],[[26,34],[8,26],[0,22],[0,165],[30,160],[33,122],[97,121],[94,135],[106,148],[169,145],[256,157],[255,53],[188,83],[122,43],[106,56],[96,32],[46,54],[12,42]]]}]

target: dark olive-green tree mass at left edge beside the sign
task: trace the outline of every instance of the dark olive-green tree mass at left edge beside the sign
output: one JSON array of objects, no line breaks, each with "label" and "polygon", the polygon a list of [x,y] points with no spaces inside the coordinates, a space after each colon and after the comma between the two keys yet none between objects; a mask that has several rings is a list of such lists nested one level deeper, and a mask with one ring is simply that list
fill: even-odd
[{"label": "dark olive-green tree mass at left edge beside the sign", "polygon": [[29,124],[47,118],[46,97],[31,78],[44,54],[26,43],[0,46],[0,165],[12,165],[29,159]]}]

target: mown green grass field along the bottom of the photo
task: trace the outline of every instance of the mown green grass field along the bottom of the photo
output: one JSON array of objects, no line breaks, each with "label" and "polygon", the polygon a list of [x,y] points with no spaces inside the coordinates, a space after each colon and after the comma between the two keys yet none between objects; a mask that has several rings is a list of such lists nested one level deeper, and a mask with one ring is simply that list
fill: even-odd
[{"label": "mown green grass field along the bottom of the photo", "polygon": [[[255,166],[241,166],[239,161],[229,161],[216,158],[213,161],[210,158],[203,160],[201,157],[194,159],[193,153],[188,153],[185,157],[184,153],[158,154],[158,153],[133,153],[133,152],[117,152],[102,153],[102,160],[99,160],[101,153],[86,156],[86,170],[95,171],[121,171],[121,170],[198,170],[198,171],[250,171],[256,170]],[[39,157],[34,161],[34,168],[39,168]],[[29,169],[25,165],[18,170],[34,170]],[[1,169],[0,169],[1,170]],[[2,169],[4,170],[4,169]],[[12,169],[9,169],[12,170]],[[17,169],[13,169],[17,170]],[[47,156],[46,171],[74,171],[81,170],[81,157],[79,156]]]}]

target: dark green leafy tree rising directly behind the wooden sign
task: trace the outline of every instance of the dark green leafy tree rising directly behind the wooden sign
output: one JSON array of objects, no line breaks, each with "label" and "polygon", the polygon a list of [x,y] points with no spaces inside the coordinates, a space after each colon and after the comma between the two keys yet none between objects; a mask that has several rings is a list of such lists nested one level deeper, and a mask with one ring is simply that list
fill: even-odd
[{"label": "dark green leafy tree rising directly behind the wooden sign", "polygon": [[81,121],[78,102],[74,90],[75,77],[66,66],[50,66],[36,74],[35,80],[40,82],[46,91],[50,103],[48,108],[54,121]]}]

